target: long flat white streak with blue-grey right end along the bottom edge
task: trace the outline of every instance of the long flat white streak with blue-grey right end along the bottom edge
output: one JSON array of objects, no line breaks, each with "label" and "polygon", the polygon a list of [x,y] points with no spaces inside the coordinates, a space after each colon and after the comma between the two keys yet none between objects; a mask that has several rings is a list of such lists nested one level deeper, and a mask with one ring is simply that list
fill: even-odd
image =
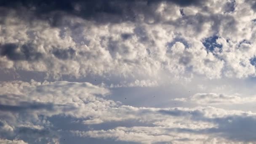
[{"label": "long flat white streak with blue-grey right end along the bottom edge", "polygon": [[[206,118],[206,117],[205,117]],[[200,118],[199,118],[200,119]],[[207,119],[207,118],[206,118]],[[233,121],[234,120],[234,121]],[[168,126],[155,127],[117,127],[110,130],[99,131],[71,131],[75,136],[111,138],[119,141],[135,141],[145,144],[167,142],[167,143],[243,143],[252,142],[254,128],[249,128],[255,123],[255,116],[230,115],[207,119],[217,126],[213,128],[191,129],[191,128],[168,128]],[[240,123],[247,123],[241,126]],[[239,123],[239,124],[238,124]],[[248,126],[248,127],[247,127]],[[240,133],[244,131],[245,133]]]}]

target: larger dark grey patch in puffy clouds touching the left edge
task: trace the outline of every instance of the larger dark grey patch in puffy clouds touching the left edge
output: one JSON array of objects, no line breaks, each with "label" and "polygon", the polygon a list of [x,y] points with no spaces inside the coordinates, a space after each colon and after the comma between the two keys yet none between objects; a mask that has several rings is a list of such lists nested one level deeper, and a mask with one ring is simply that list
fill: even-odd
[{"label": "larger dark grey patch in puffy clouds touching the left edge", "polygon": [[43,57],[42,53],[35,51],[32,44],[19,46],[15,43],[6,43],[0,45],[0,54],[13,61],[37,61]]}]

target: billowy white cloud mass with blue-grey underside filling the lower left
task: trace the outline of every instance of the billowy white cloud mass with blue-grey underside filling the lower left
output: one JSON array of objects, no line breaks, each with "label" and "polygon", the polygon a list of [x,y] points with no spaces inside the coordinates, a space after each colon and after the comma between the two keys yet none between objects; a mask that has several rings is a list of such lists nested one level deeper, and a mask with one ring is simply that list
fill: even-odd
[{"label": "billowy white cloud mass with blue-grey underside filling the lower left", "polygon": [[[47,81],[38,83],[33,80],[31,83],[22,81],[1,83],[0,89],[2,136],[11,140],[23,139],[29,143],[35,141],[58,143],[58,133],[52,130],[51,123],[43,117],[53,115],[90,117],[92,108],[96,110],[96,104],[103,102],[102,98],[97,100],[95,95],[109,93],[107,89],[90,83],[49,83]],[[63,91],[64,89],[67,91]],[[66,94],[70,95],[69,99],[66,98]],[[107,107],[111,107],[112,101],[104,101],[102,105],[104,103],[108,104]],[[83,109],[89,112],[87,116],[84,115]]]}]

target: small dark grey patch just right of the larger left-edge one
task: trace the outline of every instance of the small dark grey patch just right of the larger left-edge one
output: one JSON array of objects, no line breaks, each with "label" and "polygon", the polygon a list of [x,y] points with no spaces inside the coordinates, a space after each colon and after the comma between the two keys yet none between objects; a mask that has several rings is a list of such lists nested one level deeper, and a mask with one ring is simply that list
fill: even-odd
[{"label": "small dark grey patch just right of the larger left-edge one", "polygon": [[73,48],[69,48],[69,49],[54,48],[53,55],[58,59],[63,59],[63,60],[72,59],[75,56],[75,50]]}]

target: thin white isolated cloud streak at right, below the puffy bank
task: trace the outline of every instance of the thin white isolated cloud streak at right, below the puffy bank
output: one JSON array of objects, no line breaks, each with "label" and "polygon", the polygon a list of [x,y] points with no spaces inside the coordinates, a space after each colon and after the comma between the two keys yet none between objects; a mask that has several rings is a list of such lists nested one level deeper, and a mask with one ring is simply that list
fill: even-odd
[{"label": "thin white isolated cloud streak at right, below the puffy bank", "polygon": [[245,104],[256,101],[255,96],[240,97],[236,95],[225,95],[217,93],[196,93],[189,98],[176,98],[175,101],[193,102],[202,105],[216,105],[216,104]]}]

